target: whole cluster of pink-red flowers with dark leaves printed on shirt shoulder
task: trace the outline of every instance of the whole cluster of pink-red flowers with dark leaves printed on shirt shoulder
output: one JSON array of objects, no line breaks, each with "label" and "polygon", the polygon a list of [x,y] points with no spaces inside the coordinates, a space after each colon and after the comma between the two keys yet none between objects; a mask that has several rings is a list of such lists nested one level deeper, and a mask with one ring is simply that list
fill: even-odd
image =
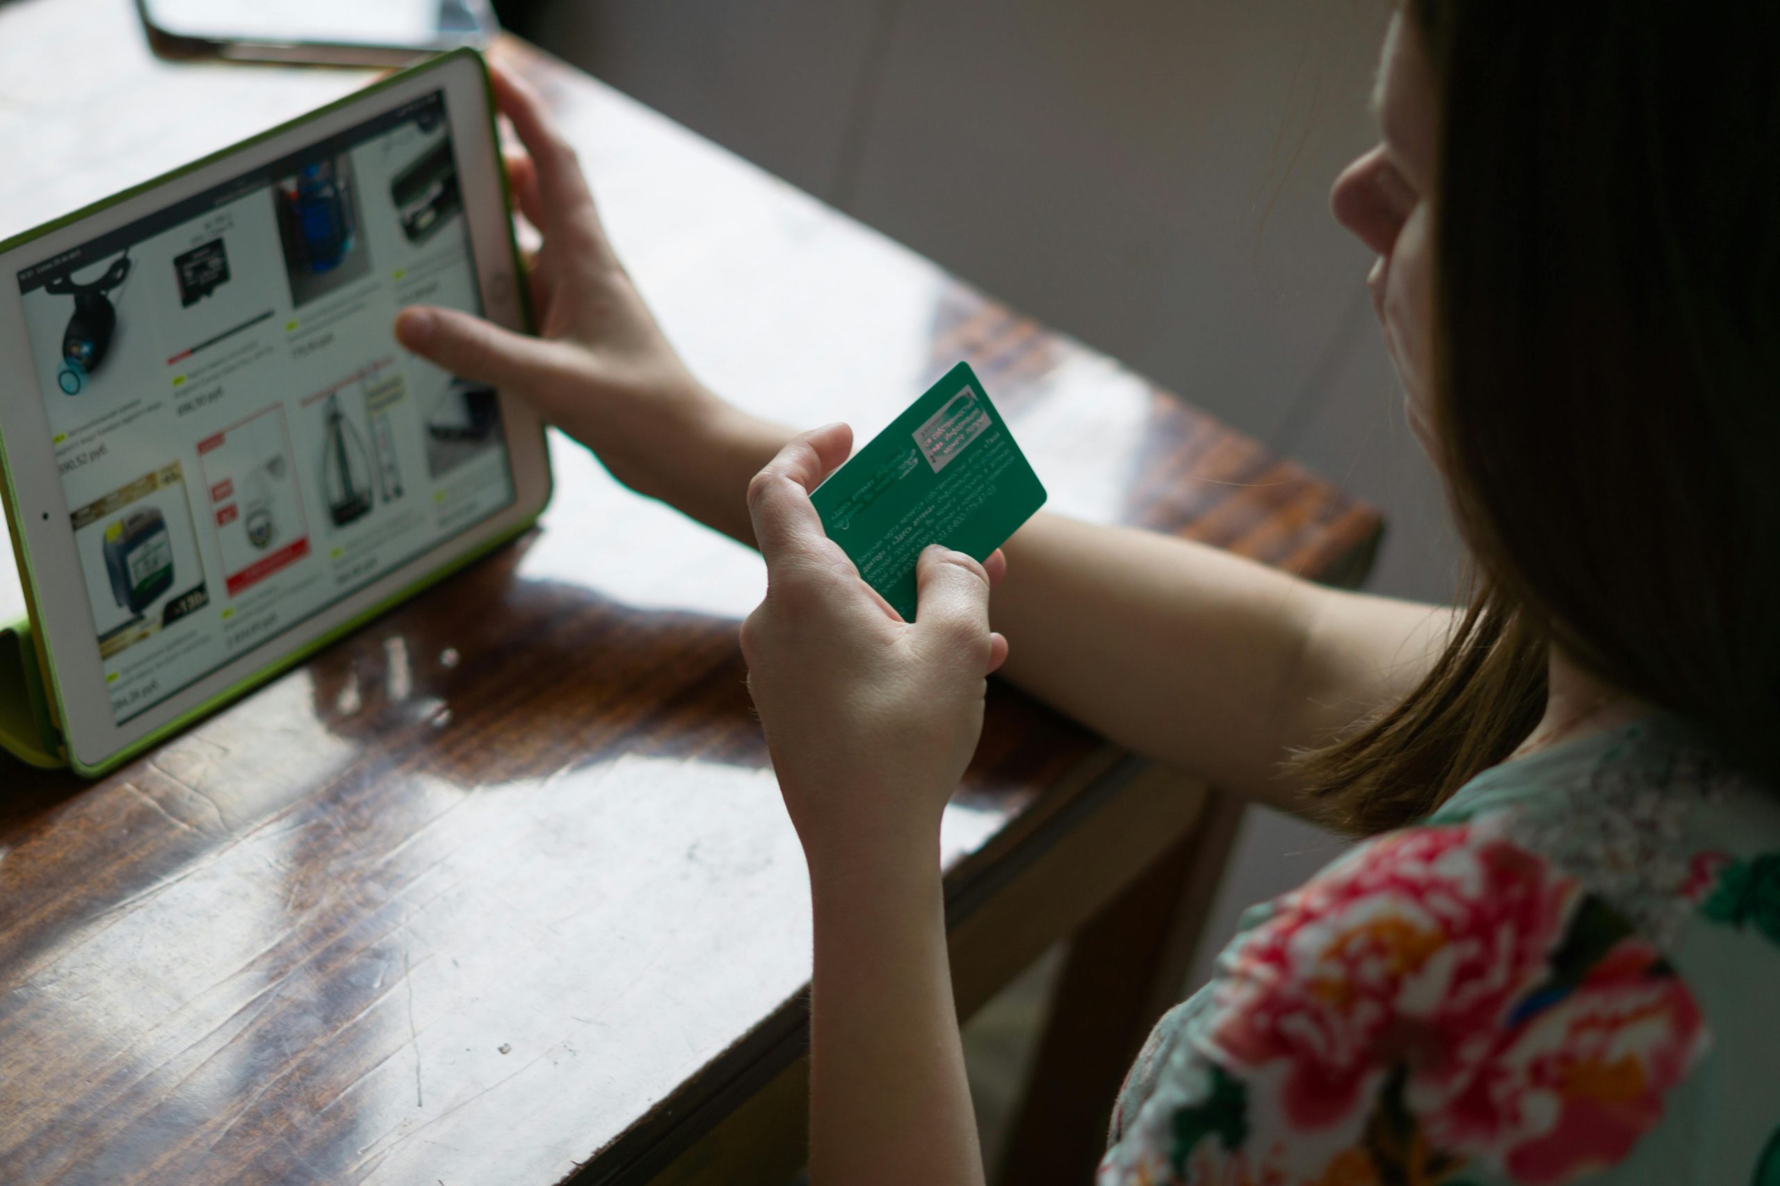
[{"label": "whole cluster of pink-red flowers with dark leaves printed on shirt shoulder", "polygon": [[1225,967],[1207,1053],[1289,1138],[1358,1143],[1399,1115],[1417,1163],[1547,1184],[1620,1161],[1705,1038],[1618,912],[1456,825],[1381,837],[1282,900]]}]

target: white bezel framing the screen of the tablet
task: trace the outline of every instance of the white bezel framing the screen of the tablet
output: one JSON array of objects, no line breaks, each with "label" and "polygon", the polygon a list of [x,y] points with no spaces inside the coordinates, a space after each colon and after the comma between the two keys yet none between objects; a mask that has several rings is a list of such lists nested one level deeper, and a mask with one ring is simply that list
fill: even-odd
[{"label": "white bezel framing the screen of the tablet", "polygon": [[[0,357],[32,357],[16,283],[21,268],[433,91],[443,91],[445,96],[484,317],[509,329],[527,329],[529,313],[520,283],[518,245],[507,213],[506,169],[495,133],[488,71],[475,50],[456,50],[0,244],[0,277],[5,281],[0,283]],[[7,446],[50,439],[43,395],[36,384],[36,368],[20,366],[0,375],[0,478],[4,478],[0,487],[5,493],[7,519],[12,526],[20,578],[52,713],[62,733],[69,765],[89,775],[110,770],[522,532],[550,498],[543,421],[525,404],[502,393],[500,414],[514,485],[511,505],[400,564],[365,589],[317,610],[306,621],[119,725],[112,720],[103,663],[94,645],[98,631],[93,608],[85,596],[55,596],[59,589],[80,589],[84,580],[75,533],[68,528],[69,507],[55,455],[46,446]]]}]

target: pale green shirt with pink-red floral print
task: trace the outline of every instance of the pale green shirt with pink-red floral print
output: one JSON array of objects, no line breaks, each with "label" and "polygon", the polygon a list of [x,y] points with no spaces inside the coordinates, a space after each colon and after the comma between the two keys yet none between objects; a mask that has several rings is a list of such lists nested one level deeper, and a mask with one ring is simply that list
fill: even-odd
[{"label": "pale green shirt with pink-red floral print", "polygon": [[1250,910],[1100,1186],[1780,1186],[1780,795],[1650,717]]}]

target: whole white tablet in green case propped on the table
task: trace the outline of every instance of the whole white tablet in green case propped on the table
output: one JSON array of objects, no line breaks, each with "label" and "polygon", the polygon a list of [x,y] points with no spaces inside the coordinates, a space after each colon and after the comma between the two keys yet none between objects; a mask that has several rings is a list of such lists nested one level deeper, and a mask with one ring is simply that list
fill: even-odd
[{"label": "whole white tablet in green case propped on the table", "polygon": [[395,343],[523,329],[472,50],[0,244],[0,487],[62,754],[100,773],[550,493],[543,427]]}]

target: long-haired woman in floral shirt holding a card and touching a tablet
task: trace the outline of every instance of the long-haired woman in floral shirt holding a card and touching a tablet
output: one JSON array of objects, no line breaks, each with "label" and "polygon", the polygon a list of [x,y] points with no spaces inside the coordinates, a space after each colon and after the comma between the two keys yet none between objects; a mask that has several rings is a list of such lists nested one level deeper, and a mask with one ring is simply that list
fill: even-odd
[{"label": "long-haired woman in floral shirt holding a card and touching a tablet", "polygon": [[1102,1182],[1780,1182],[1775,60],[1769,5],[1394,18],[1331,204],[1378,254],[1463,613],[1040,516],[986,565],[924,553],[915,624],[810,507],[849,430],[705,391],[500,82],[541,340],[399,334],[767,560],[742,651],[810,864],[817,1182],[983,1177],[934,853],[995,670],[1374,834],[1157,1026]]}]

